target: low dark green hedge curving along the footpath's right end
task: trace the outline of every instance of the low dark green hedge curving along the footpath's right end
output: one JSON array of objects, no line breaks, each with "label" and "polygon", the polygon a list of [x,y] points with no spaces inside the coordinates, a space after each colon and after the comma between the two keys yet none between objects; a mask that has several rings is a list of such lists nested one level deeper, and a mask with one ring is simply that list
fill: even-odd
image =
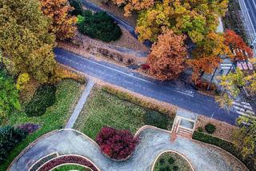
[{"label": "low dark green hedge curving along the footpath's right end", "polygon": [[256,170],[256,163],[255,163],[256,161],[254,160],[254,158],[242,157],[242,154],[240,153],[240,151],[238,151],[238,149],[235,148],[234,144],[232,144],[229,141],[222,140],[218,137],[210,136],[209,134],[206,134],[206,133],[200,133],[198,131],[194,131],[193,139],[205,142],[210,145],[216,145],[226,150],[227,152],[231,153],[232,155],[234,155],[234,157],[237,157],[240,161],[242,161],[246,165],[248,169]]}]

